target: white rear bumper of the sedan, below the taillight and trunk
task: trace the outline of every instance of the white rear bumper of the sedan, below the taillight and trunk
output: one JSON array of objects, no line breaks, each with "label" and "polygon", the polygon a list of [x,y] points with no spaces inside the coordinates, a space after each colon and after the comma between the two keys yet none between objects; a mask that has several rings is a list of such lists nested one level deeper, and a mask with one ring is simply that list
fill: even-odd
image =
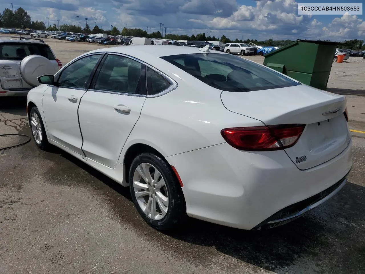
[{"label": "white rear bumper of the sedan, below the taillight and trunk", "polygon": [[[284,151],[244,152],[227,143],[166,160],[184,184],[189,216],[250,230],[346,178],[352,166],[351,145],[333,159],[305,171],[299,170]],[[298,212],[307,206],[297,208]]]}]

